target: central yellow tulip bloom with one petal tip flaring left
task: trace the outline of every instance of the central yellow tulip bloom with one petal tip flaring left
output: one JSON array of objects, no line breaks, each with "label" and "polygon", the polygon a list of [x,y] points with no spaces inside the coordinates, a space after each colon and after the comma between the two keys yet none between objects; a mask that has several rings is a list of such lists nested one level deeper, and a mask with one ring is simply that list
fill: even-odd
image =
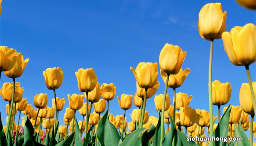
[{"label": "central yellow tulip bloom with one petal tip flaring left", "polygon": [[140,62],[136,69],[130,67],[140,88],[149,89],[157,84],[157,63]]}]

